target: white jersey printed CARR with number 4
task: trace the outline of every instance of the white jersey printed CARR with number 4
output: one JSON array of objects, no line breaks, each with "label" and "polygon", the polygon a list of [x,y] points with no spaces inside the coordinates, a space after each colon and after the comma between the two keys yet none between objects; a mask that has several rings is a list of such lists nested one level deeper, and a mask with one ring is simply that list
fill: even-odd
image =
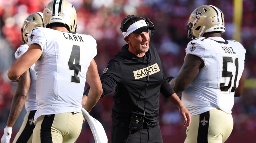
[{"label": "white jersey printed CARR with number 4", "polygon": [[41,115],[81,112],[86,72],[97,54],[96,40],[90,35],[39,27],[31,31],[28,43],[42,48],[35,65],[39,105],[35,122]]}]

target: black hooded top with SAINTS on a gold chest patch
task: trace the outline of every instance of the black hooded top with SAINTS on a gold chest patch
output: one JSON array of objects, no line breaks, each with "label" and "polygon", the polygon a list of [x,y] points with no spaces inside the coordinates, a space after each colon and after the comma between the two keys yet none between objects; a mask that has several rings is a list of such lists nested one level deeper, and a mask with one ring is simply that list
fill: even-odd
[{"label": "black hooded top with SAINTS on a gold chest patch", "polygon": [[100,79],[102,96],[115,89],[112,108],[114,125],[118,123],[129,125],[133,113],[143,116],[144,99],[146,104],[143,126],[158,125],[160,89],[166,98],[175,92],[164,76],[156,48],[151,45],[144,57],[129,52],[127,44],[123,46],[122,50],[109,61]]}]

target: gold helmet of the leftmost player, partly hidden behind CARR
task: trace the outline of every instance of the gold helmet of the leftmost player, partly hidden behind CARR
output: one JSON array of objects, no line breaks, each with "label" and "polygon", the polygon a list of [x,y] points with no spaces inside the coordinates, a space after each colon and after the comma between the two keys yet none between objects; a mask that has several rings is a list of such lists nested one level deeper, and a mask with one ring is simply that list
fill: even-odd
[{"label": "gold helmet of the leftmost player, partly hidden behind CARR", "polygon": [[21,27],[21,35],[23,44],[28,43],[29,33],[36,27],[44,27],[43,13],[35,12],[30,14]]}]

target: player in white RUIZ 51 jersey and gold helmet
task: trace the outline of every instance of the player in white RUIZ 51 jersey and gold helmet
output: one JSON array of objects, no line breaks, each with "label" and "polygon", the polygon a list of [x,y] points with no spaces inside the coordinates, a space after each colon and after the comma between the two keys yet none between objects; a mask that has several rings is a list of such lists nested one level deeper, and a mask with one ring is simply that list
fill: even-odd
[{"label": "player in white RUIZ 51 jersey and gold helmet", "polygon": [[245,49],[224,40],[224,14],[215,6],[197,7],[190,15],[186,56],[170,81],[190,111],[192,122],[185,143],[223,143],[233,129],[234,96],[244,88]]}]

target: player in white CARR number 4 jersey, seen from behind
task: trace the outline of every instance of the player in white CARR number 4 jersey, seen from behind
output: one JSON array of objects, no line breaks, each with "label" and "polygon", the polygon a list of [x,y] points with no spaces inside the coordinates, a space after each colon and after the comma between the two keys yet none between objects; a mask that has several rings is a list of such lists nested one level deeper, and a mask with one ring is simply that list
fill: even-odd
[{"label": "player in white CARR number 4 jersey, seen from behind", "polygon": [[35,64],[37,72],[33,142],[73,143],[83,124],[82,95],[87,82],[94,96],[84,108],[89,112],[102,94],[94,61],[96,40],[76,33],[75,8],[66,0],[53,0],[44,8],[46,28],[35,28],[29,36],[29,49],[8,70],[11,81]]}]

